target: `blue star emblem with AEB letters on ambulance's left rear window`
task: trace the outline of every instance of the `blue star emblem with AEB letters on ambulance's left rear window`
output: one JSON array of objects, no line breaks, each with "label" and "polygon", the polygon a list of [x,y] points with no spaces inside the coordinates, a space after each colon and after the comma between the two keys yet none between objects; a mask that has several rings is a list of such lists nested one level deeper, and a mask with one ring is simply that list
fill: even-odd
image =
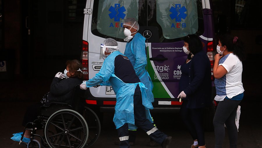
[{"label": "blue star emblem with AEB letters on ambulance's left rear window", "polygon": [[[109,15],[110,19],[113,19],[114,18],[114,21],[120,21],[120,18],[121,19],[124,19],[125,18],[125,7],[122,6],[120,7],[120,4],[119,3],[115,3],[115,7],[110,7],[109,8],[109,11],[111,12]],[[111,23],[109,27],[114,27],[114,24]],[[115,27],[118,28],[118,27],[123,27],[123,23],[121,23],[119,25],[119,22],[116,22],[115,23]]]}]

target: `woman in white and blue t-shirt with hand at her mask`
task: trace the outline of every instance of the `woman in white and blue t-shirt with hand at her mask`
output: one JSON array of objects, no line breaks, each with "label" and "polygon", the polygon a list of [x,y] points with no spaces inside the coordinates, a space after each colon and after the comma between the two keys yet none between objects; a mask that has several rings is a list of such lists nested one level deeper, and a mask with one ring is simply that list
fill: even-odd
[{"label": "woman in white and blue t-shirt with hand at her mask", "polygon": [[238,129],[235,117],[244,96],[242,84],[243,43],[238,37],[223,35],[219,38],[213,74],[215,77],[215,100],[218,102],[213,120],[215,148],[221,148],[225,137],[224,124],[228,129],[230,148],[236,148]]}]

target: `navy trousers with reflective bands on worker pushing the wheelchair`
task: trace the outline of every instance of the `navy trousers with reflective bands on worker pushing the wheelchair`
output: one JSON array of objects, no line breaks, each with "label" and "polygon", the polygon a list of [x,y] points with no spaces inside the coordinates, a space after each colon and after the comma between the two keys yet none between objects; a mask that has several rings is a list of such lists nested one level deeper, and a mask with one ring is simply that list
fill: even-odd
[{"label": "navy trousers with reflective bands on worker pushing the wheelchair", "polygon": [[[134,120],[135,125],[143,129],[155,142],[162,144],[164,139],[167,137],[166,134],[158,129],[154,130],[156,127],[148,119],[146,119],[146,111],[144,105],[142,104],[142,95],[138,85],[134,93]],[[118,128],[117,131],[118,137],[120,139],[123,137],[122,141],[120,141],[120,148],[129,148],[129,142],[128,140],[125,140],[125,137],[129,136],[128,124],[124,124],[122,127]]]}]

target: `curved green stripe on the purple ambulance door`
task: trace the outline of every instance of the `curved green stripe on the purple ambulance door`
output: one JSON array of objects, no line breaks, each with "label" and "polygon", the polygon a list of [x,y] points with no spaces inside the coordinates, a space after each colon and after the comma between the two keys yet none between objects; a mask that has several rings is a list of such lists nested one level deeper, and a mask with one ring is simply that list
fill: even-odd
[{"label": "curved green stripe on the purple ambulance door", "polygon": [[171,98],[170,95],[167,93],[161,82],[157,80],[153,80],[155,71],[153,69],[153,66],[151,65],[151,62],[149,60],[149,53],[148,53],[148,46],[147,46],[147,71],[153,81],[153,94],[154,98]]}]

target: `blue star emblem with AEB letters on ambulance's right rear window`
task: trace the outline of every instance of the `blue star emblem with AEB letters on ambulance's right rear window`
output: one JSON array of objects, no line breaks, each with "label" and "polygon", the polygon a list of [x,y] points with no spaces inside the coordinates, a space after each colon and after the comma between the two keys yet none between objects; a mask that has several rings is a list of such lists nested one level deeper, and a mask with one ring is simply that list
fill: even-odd
[{"label": "blue star emblem with AEB letters on ambulance's right rear window", "polygon": [[[181,7],[181,4],[175,4],[175,7],[171,7],[170,12],[172,12],[169,16],[171,17],[171,19],[175,19],[177,22],[180,22],[181,19],[185,19],[187,17],[187,14],[185,14],[185,12],[187,11],[187,9],[185,8],[185,6]],[[186,24],[185,23],[176,23],[176,26],[174,23],[172,23],[171,28],[185,28]]]}]

